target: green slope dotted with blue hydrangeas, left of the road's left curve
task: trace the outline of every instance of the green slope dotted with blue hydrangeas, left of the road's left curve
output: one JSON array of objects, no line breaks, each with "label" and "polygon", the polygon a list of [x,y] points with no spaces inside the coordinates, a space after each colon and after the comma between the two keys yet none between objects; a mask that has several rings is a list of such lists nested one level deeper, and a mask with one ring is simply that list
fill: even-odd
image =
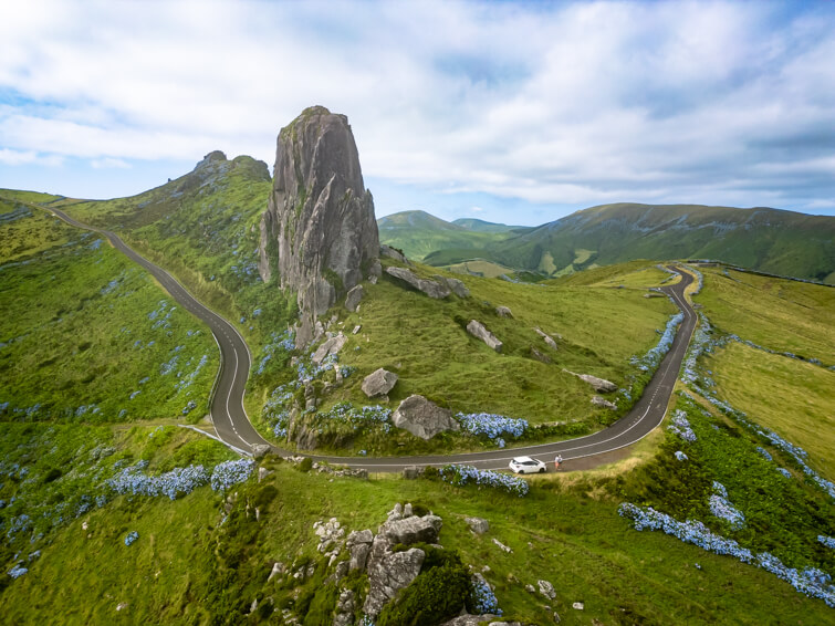
[{"label": "green slope dotted with blue hydrangeas, left of the road's left curve", "polygon": [[[35,253],[0,269],[0,419],[182,418],[189,401],[189,419],[207,413],[217,346],[149,274],[106,240],[52,218],[11,227]],[[44,231],[55,239],[38,251]]]}]

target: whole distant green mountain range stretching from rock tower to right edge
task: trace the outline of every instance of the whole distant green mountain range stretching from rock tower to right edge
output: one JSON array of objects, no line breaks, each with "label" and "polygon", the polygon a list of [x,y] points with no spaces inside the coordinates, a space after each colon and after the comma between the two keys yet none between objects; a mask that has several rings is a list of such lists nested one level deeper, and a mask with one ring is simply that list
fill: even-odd
[{"label": "whole distant green mountain range stretching from rock tower to right edge", "polygon": [[[689,257],[835,284],[835,218],[826,216],[765,207],[622,202],[591,207],[535,228],[514,228],[481,220],[446,222],[428,213],[409,221],[400,218],[404,215],[384,218],[399,228],[380,227],[380,240],[407,254],[419,250],[418,258],[438,267],[483,259],[556,277],[634,259]],[[480,223],[462,230],[461,222],[472,221]],[[429,222],[431,231],[424,226]],[[474,237],[484,232],[492,240]]]}]

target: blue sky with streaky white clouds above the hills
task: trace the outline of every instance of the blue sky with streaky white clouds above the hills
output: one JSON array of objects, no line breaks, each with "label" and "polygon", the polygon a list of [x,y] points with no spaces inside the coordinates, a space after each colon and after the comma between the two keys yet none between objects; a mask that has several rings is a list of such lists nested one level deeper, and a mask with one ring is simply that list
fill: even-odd
[{"label": "blue sky with streaky white clouds above the hills", "polygon": [[4,2],[0,187],[128,196],[348,116],[377,215],[835,215],[831,2]]}]

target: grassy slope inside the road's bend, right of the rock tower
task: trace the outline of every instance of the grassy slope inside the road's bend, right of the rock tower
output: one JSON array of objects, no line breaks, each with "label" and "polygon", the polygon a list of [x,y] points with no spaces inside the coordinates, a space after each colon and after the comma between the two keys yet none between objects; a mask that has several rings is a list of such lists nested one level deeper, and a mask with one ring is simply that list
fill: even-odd
[{"label": "grassy slope inside the road's bend, right of the rock tower", "polygon": [[[425,265],[414,269],[426,278],[438,273]],[[355,372],[323,394],[320,411],[345,400],[355,406],[379,403],[394,409],[400,400],[419,394],[453,413],[491,413],[524,418],[531,425],[582,424],[585,432],[610,424],[616,414],[593,407],[594,390],[563,368],[630,389],[641,374],[629,363],[630,357],[658,343],[656,331],[664,328],[676,311],[667,299],[645,299],[638,290],[551,288],[476,277],[462,280],[471,291],[469,298],[450,295],[437,301],[403,288],[384,273],[378,284],[365,285],[358,313],[338,307],[338,322],[332,331],[343,330],[347,336],[340,365]],[[500,305],[510,307],[513,317],[498,315]],[[610,324],[614,317],[617,325]],[[466,332],[473,319],[503,342],[501,354]],[[362,328],[356,335],[351,333],[355,326]],[[535,327],[561,337],[556,351]],[[551,363],[535,358],[532,348],[547,355]],[[257,355],[255,362],[259,358]],[[361,390],[363,378],[379,367],[399,377],[388,401],[369,400]],[[286,373],[276,373],[272,386],[260,385],[262,396],[253,393],[250,401],[263,404],[268,393],[288,380]],[[622,403],[617,415],[630,406],[623,396],[613,399]],[[349,448],[368,453],[479,446],[452,436],[425,442],[397,429],[385,436],[377,432],[351,439]]]}]

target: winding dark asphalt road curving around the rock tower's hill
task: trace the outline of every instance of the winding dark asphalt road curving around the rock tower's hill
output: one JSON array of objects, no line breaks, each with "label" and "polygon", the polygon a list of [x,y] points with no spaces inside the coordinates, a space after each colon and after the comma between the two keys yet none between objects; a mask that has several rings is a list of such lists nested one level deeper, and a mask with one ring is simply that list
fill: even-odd
[{"label": "winding dark asphalt road curving around the rock tower's hill", "polygon": [[[251,356],[247,342],[232,324],[196,300],[174,277],[139,255],[116,233],[76,221],[59,209],[38,208],[45,209],[71,226],[106,237],[114,248],[145,268],[180,305],[208,324],[220,348],[220,371],[215,380],[210,413],[217,436],[223,444],[244,455],[250,455],[252,448],[260,445],[270,446],[281,456],[293,453],[273,446],[261,437],[247,416],[243,408],[243,394]],[[646,437],[664,420],[681,362],[696,328],[696,313],[685,296],[685,290],[693,279],[686,272],[680,273],[681,281],[675,285],[661,288],[661,291],[672,298],[685,314],[672,346],[633,409],[608,428],[576,439],[489,452],[380,458],[311,455],[311,458],[376,472],[400,471],[409,466],[446,463],[467,463],[480,469],[505,469],[510,459],[519,456],[534,456],[544,461],[552,461],[556,455],[561,455],[564,461],[570,461],[630,446]]]}]

